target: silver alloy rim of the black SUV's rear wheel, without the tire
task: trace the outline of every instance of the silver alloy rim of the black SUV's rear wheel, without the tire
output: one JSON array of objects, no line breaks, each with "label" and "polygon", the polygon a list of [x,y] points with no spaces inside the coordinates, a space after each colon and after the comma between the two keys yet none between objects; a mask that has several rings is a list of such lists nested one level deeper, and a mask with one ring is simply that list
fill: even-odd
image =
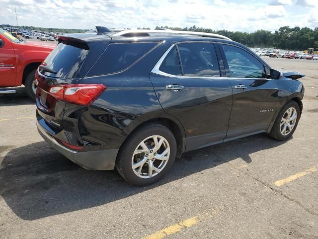
[{"label": "silver alloy rim of the black SUV's rear wheel, without the tire", "polygon": [[168,141],[160,135],[153,135],[145,138],[136,147],[131,166],[138,177],[152,178],[162,171],[169,156]]}]

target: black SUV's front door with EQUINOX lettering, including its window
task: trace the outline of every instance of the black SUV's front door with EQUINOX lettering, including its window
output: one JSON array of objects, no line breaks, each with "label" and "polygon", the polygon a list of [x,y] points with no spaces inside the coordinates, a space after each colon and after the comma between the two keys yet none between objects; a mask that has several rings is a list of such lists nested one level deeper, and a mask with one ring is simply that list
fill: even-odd
[{"label": "black SUV's front door with EQUINOX lettering, including its window", "polygon": [[219,46],[233,89],[227,139],[267,130],[280,109],[276,80],[267,78],[266,66],[247,50],[230,44]]}]

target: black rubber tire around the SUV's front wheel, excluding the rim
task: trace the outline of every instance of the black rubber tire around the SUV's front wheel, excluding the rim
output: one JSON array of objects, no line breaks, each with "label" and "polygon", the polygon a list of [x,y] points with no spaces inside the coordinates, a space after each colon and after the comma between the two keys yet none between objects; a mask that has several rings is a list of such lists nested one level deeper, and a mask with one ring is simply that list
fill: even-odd
[{"label": "black rubber tire around the SUV's front wheel, excluding the rim", "polygon": [[[281,123],[281,121],[283,119],[283,116],[285,115],[285,112],[291,107],[294,107],[296,109],[297,119],[296,119],[296,122],[295,122],[295,126],[291,130],[291,132],[288,133],[287,135],[283,135],[281,133],[280,123]],[[300,119],[300,108],[299,108],[299,105],[297,104],[297,102],[295,102],[293,100],[287,102],[286,105],[279,112],[279,114],[278,114],[278,116],[277,116],[277,118],[275,120],[275,123],[274,123],[272,129],[269,132],[269,136],[274,138],[274,139],[276,139],[276,140],[280,140],[280,141],[290,138],[293,135],[293,133],[295,132],[296,128],[297,128],[299,119]]]}]

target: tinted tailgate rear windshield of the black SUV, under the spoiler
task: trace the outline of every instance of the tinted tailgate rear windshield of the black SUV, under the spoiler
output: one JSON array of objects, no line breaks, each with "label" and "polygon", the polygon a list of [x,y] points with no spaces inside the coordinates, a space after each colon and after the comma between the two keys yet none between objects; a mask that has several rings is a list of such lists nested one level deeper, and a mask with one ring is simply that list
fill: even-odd
[{"label": "tinted tailgate rear windshield of the black SUV, under the spoiler", "polygon": [[60,78],[80,78],[77,73],[80,66],[86,59],[88,54],[88,46],[86,44],[58,44],[54,50],[48,55],[44,63],[56,74],[45,72],[45,75]]}]

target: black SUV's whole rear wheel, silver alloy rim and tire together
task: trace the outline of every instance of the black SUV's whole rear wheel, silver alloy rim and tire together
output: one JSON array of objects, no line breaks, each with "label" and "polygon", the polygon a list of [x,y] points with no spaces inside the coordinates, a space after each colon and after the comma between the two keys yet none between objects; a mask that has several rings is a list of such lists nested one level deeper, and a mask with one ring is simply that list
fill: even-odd
[{"label": "black SUV's whole rear wheel, silver alloy rim and tire together", "polygon": [[172,132],[157,123],[134,131],[121,147],[116,169],[130,184],[144,186],[162,178],[172,167],[176,140]]}]

